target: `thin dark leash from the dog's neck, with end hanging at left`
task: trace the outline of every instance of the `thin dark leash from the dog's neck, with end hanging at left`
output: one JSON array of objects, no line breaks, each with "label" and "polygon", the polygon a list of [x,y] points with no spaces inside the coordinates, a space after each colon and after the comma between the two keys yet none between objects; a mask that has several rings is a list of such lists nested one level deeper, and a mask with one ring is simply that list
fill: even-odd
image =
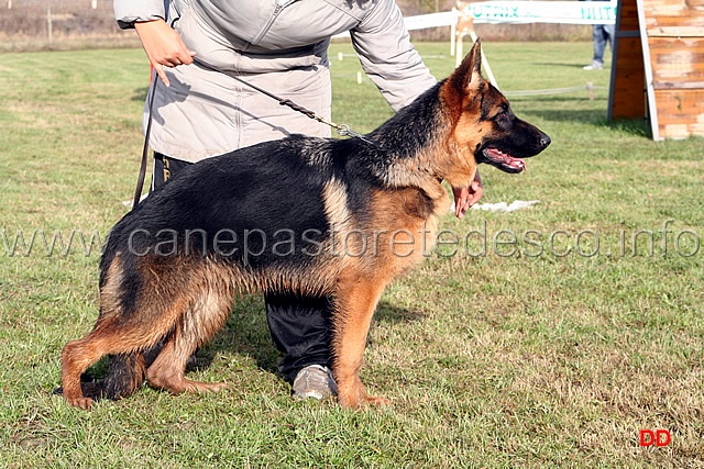
[{"label": "thin dark leash from the dog's neck, with end hanging at left", "polygon": [[[228,77],[239,81],[242,85],[246,85],[248,87],[254,89],[255,91],[261,92],[262,94],[265,94],[276,101],[278,101],[278,103],[280,105],[285,105],[296,112],[300,112],[301,114],[306,115],[307,118],[312,119],[314,121],[318,121],[321,124],[326,124],[328,126],[330,126],[331,129],[334,129],[338,132],[338,135],[343,136],[343,137],[352,137],[352,138],[360,138],[363,142],[366,142],[370,145],[374,145],[376,146],[376,144],[367,138],[365,138],[362,134],[359,134],[356,132],[354,132],[353,130],[350,129],[350,126],[348,124],[336,124],[334,122],[328,121],[324,118],[316,114],[314,111],[304,108],[300,104],[295,103],[294,101],[289,100],[289,99],[284,99],[280,98],[276,94],[274,94],[273,92],[270,92],[263,88],[257,87],[256,85],[252,85],[246,80],[243,80],[242,78],[238,77],[237,75],[227,71],[227,70],[222,70],[220,68],[213,67],[210,64],[207,64],[202,60],[198,60],[198,59],[194,59],[194,63],[198,64],[200,67],[210,70],[210,71],[217,71],[223,75],[227,75]],[[150,134],[152,133],[152,108],[154,107],[154,94],[155,90],[156,90],[156,81],[158,80],[158,77],[156,75],[156,72],[154,72],[153,77],[152,77],[152,87],[151,87],[151,94],[150,94],[150,103],[148,103],[148,116],[147,116],[147,122],[146,122],[146,130],[144,131],[144,146],[142,148],[142,163],[140,165],[140,175],[138,177],[138,181],[136,181],[136,189],[134,191],[134,200],[132,201],[132,208],[135,208],[139,203],[140,203],[140,199],[142,197],[142,190],[144,188],[144,179],[146,178],[146,161],[147,161],[147,156],[148,156],[148,142],[150,142]]]}]

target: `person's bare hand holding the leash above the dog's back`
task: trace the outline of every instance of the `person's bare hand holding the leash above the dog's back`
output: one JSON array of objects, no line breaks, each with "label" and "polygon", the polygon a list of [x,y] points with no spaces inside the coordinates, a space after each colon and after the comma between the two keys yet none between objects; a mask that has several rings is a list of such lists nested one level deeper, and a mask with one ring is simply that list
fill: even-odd
[{"label": "person's bare hand holding the leash above the dog's back", "polygon": [[134,29],[154,70],[167,87],[170,83],[166,78],[164,67],[193,64],[196,53],[186,47],[180,34],[164,20],[134,23]]}]

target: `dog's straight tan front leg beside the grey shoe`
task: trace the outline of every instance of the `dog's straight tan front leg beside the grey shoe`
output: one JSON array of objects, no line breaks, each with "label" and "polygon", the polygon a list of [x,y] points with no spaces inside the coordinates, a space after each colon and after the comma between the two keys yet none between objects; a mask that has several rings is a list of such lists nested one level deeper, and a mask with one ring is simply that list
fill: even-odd
[{"label": "dog's straight tan front leg beside the grey shoe", "polygon": [[383,398],[370,397],[360,380],[366,336],[385,282],[358,278],[339,286],[332,319],[332,371],[338,383],[338,402],[351,409],[386,404],[388,401]]}]

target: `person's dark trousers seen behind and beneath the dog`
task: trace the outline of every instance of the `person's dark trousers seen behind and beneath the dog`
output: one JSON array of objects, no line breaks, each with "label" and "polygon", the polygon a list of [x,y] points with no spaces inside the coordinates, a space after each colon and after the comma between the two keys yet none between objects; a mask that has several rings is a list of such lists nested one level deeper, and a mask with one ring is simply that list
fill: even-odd
[{"label": "person's dark trousers seen behind and beneath the dog", "polygon": [[[152,190],[158,190],[187,161],[154,154]],[[309,365],[330,367],[330,302],[321,298],[302,298],[277,292],[264,295],[266,321],[276,348],[284,354],[279,370],[293,382],[300,369]]]}]

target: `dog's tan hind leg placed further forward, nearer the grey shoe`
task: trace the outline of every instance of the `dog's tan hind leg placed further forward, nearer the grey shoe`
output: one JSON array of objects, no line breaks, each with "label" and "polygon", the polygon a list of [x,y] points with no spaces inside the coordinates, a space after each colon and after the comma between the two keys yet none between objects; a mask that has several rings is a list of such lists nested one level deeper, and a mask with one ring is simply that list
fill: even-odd
[{"label": "dog's tan hind leg placed further forward, nearer the grey shoe", "polygon": [[173,394],[182,392],[219,391],[222,382],[200,382],[186,378],[186,364],[191,354],[207,343],[226,323],[232,305],[228,288],[205,288],[175,331],[169,334],[164,348],[146,370],[146,380],[153,388]]}]

